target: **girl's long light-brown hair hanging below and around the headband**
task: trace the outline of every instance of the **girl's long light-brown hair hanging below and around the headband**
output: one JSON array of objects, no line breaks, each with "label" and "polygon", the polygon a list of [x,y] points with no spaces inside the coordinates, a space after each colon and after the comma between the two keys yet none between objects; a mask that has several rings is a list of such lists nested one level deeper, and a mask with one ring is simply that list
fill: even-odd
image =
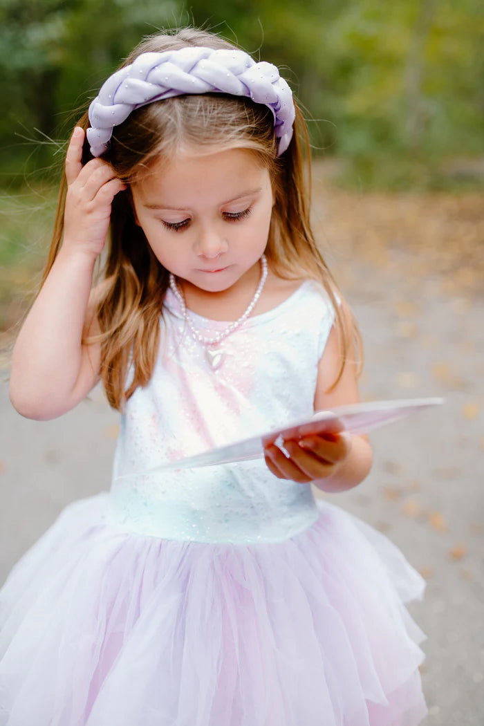
[{"label": "girl's long light-brown hair hanging below and around the headband", "polygon": [[[120,67],[131,64],[141,53],[186,46],[234,48],[219,36],[184,28],[176,33],[158,33],[146,38]],[[177,96],[135,110],[113,129],[110,147],[103,158],[122,181],[130,184],[141,178],[155,160],[160,157],[170,160],[184,149],[201,152],[232,148],[253,150],[261,165],[268,169],[275,193],[266,249],[271,269],[287,279],[311,277],[319,280],[335,308],[342,352],[335,385],[343,374],[352,340],[357,351],[361,351],[361,340],[353,314],[338,292],[311,232],[308,135],[297,105],[295,109],[295,133],[281,158],[277,158],[271,110],[250,99],[225,94]],[[88,128],[87,113],[77,125]],[[85,142],[83,163],[91,158],[89,144]],[[303,174],[304,162],[308,167],[308,184]],[[64,176],[43,282],[60,249],[66,188]],[[107,399],[116,409],[122,409],[136,388],[146,385],[152,376],[167,287],[168,271],[157,261],[144,232],[135,222],[128,187],[113,200],[107,257],[99,284],[91,295],[100,334],[83,340],[85,344],[101,344],[100,375]]]}]

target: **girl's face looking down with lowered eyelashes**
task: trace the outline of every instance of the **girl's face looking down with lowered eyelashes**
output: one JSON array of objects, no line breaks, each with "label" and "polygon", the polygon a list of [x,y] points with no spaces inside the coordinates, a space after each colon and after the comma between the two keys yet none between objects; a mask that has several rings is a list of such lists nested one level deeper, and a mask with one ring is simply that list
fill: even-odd
[{"label": "girl's face looking down with lowered eyelashes", "polygon": [[249,150],[157,161],[131,192],[149,246],[184,285],[217,293],[253,279],[274,198],[268,170]]}]

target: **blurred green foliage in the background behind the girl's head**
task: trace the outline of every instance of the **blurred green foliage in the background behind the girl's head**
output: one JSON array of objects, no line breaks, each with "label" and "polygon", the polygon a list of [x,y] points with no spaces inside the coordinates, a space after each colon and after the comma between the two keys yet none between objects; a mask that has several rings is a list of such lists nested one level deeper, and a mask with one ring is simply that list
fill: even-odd
[{"label": "blurred green foliage in the background behind the girl's head", "polygon": [[157,28],[191,24],[282,68],[315,152],[341,158],[348,183],[482,183],[480,0],[1,0],[0,179],[61,162],[120,58]]}]

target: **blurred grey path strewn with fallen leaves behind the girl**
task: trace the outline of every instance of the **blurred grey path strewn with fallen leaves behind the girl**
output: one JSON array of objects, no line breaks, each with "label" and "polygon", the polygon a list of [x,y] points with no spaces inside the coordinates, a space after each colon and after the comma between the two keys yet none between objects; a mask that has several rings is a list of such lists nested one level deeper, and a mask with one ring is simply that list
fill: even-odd
[{"label": "blurred grey path strewn with fallen leaves behind the girl", "polygon": [[[332,501],[427,581],[426,726],[484,724],[484,214],[476,195],[355,194],[316,168],[314,223],[365,343],[364,399],[446,404],[372,435],[374,468]],[[118,416],[102,392],[22,419],[0,386],[0,582],[67,502],[107,489]]]}]

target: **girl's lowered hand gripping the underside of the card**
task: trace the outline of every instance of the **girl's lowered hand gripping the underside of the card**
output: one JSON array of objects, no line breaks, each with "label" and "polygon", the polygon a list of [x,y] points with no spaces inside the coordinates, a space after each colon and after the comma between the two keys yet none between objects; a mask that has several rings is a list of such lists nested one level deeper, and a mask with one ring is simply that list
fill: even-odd
[{"label": "girl's lowered hand gripping the underside of the card", "polygon": [[348,460],[351,442],[351,436],[343,431],[305,436],[299,441],[284,441],[289,457],[275,444],[266,446],[264,456],[274,476],[308,484],[334,476]]}]

